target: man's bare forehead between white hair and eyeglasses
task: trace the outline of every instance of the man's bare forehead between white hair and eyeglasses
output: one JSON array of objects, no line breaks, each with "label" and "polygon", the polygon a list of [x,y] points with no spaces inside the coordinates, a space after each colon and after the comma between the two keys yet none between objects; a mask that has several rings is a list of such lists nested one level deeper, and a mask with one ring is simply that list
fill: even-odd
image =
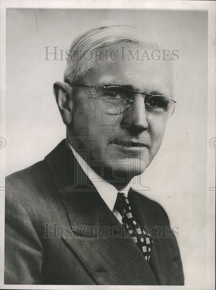
[{"label": "man's bare forehead between white hair and eyeglasses", "polygon": [[[125,46],[124,50],[121,48]],[[134,90],[159,91],[171,96],[173,65],[171,61],[155,61],[151,53],[157,48],[144,48],[136,43],[115,43],[101,48],[102,59],[95,61],[83,77],[85,85],[130,85]],[[112,55],[111,55],[112,54]],[[154,52],[154,57],[159,52]],[[132,55],[135,55],[132,60]],[[136,57],[138,55],[138,59]],[[144,57],[143,57],[144,55]],[[149,56],[150,60],[147,60]],[[117,59],[118,60],[113,60]],[[141,59],[144,60],[141,60]]]}]

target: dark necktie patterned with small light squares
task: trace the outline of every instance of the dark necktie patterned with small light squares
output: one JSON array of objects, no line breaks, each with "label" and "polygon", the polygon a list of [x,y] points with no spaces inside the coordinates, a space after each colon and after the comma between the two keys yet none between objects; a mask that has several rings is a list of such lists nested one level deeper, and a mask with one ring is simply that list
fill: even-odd
[{"label": "dark necktie patterned with small light squares", "polygon": [[122,223],[126,226],[130,236],[143,253],[145,260],[149,261],[152,249],[152,237],[144,230],[141,231],[141,227],[133,218],[129,201],[124,193],[118,193],[114,207],[121,214]]}]

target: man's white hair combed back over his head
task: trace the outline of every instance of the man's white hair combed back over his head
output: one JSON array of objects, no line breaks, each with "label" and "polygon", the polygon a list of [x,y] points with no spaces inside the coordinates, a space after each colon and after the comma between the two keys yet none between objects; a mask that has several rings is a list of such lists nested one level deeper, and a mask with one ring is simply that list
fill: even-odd
[{"label": "man's white hair combed back over his head", "polygon": [[[158,38],[158,37],[157,37]],[[95,59],[86,60],[82,57],[77,60],[78,50],[91,52],[109,44],[117,42],[134,42],[146,48],[158,47],[156,36],[133,26],[107,26],[88,31],[77,37],[70,49],[71,57],[67,60],[64,81],[69,84],[78,84],[85,73],[92,67]]]}]

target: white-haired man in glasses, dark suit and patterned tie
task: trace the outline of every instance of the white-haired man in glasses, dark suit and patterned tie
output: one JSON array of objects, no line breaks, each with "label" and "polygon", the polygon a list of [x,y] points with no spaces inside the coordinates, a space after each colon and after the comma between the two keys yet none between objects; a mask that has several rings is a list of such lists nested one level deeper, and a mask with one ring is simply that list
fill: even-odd
[{"label": "white-haired man in glasses, dark suit and patterned tie", "polygon": [[129,26],[72,44],[54,84],[67,139],[6,178],[5,284],[184,284],[175,236],[154,231],[169,229],[167,214],[130,188],[175,105],[172,62],[153,50]]}]

